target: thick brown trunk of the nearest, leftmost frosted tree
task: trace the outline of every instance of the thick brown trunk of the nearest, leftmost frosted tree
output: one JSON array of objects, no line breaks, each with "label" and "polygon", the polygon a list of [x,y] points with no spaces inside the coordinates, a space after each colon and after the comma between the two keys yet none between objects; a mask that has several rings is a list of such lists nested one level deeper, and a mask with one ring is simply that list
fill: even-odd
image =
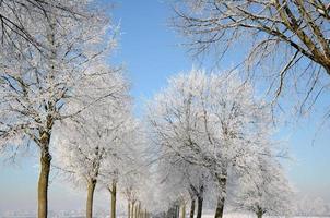
[{"label": "thick brown trunk of the nearest, leftmost frosted tree", "polygon": [[47,133],[40,136],[40,173],[38,180],[38,218],[47,218],[48,214],[48,180],[51,156],[49,154],[49,137]]}]

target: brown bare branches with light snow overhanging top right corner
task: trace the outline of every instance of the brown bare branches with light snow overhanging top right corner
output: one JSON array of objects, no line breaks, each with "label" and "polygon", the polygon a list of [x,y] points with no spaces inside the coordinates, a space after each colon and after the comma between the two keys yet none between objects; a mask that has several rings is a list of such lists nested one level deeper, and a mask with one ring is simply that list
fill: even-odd
[{"label": "brown bare branches with light snow overhanging top right corner", "polygon": [[303,113],[329,89],[329,1],[186,0],[175,11],[175,26],[197,53],[216,50],[222,59],[235,45],[247,47],[248,76],[267,78],[273,102],[297,90]]}]

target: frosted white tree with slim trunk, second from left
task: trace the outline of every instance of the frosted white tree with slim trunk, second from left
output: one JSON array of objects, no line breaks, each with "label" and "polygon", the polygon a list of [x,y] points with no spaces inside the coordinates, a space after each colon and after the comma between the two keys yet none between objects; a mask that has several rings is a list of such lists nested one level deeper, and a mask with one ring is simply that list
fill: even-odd
[{"label": "frosted white tree with slim trunk, second from left", "polygon": [[[97,84],[103,85],[102,81]],[[98,88],[97,87],[97,88]],[[116,87],[116,88],[115,88]],[[134,125],[127,109],[127,85],[118,75],[113,84],[118,90],[116,98],[104,98],[82,111],[79,116],[64,120],[58,125],[56,157],[57,165],[67,171],[78,184],[86,187],[86,217],[93,215],[93,195],[99,180],[111,173],[111,192],[116,194],[117,175],[119,170],[110,168],[109,162],[116,165],[125,157],[125,140],[131,126]],[[94,93],[95,89],[86,92]],[[111,170],[111,172],[109,172]],[[116,195],[115,195],[116,196]],[[116,198],[114,198],[116,201]]]}]

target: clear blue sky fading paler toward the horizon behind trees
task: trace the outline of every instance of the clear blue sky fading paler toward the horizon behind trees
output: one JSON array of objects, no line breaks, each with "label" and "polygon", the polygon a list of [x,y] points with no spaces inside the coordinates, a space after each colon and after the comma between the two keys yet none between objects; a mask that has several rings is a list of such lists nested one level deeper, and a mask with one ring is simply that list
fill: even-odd
[{"label": "clear blue sky fading paler toward the horizon behind trees", "polygon": [[[117,0],[111,14],[116,22],[120,22],[122,33],[111,61],[125,63],[132,83],[135,111],[140,116],[144,99],[164,87],[168,76],[189,71],[200,63],[190,59],[185,48],[177,46],[182,40],[167,26],[172,10],[166,3],[160,0]],[[220,65],[225,70],[237,61],[239,52],[234,51]],[[279,135],[288,140],[291,154],[295,157],[287,170],[297,190],[330,202],[330,134],[327,134],[329,129],[322,131],[311,145],[317,122],[317,119],[304,120],[282,129]],[[0,215],[7,210],[36,209],[37,177],[36,156],[26,155],[14,167],[0,164]],[[72,190],[56,173],[51,175],[49,192],[50,209],[84,208],[84,193]],[[96,193],[96,208],[106,208],[109,204],[107,193]]]}]

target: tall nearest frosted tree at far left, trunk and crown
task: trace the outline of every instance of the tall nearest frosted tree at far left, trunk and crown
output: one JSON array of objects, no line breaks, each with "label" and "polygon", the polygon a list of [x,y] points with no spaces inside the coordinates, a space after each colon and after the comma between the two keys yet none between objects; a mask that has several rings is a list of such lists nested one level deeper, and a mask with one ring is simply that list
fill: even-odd
[{"label": "tall nearest frosted tree at far left, trunk and crown", "polygon": [[46,53],[17,37],[15,46],[3,45],[5,52],[0,55],[0,148],[30,144],[39,148],[39,218],[47,217],[55,123],[120,94],[116,72],[105,61],[114,46],[114,28],[101,11],[84,10],[90,19],[83,23],[61,17],[59,24],[59,17],[49,14],[26,26],[47,48]]}]

